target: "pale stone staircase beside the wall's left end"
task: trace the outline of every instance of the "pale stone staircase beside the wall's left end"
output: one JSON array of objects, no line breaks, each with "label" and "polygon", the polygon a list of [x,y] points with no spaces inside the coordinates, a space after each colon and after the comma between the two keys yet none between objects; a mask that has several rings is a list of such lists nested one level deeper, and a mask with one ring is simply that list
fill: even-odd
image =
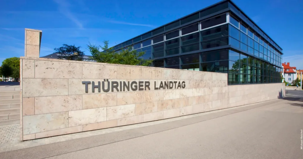
[{"label": "pale stone staircase beside the wall's left end", "polygon": [[19,123],[20,86],[0,86],[0,126]]}]

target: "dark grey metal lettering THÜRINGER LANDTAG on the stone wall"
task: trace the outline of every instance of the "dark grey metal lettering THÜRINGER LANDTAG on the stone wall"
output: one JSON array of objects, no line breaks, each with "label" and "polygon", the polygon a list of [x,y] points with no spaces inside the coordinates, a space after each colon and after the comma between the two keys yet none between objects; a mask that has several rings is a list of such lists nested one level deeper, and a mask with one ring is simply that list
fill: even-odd
[{"label": "dark grey metal lettering TH\u00dcRINGER LANDTAG on the stone wall", "polygon": [[[104,79],[102,84],[98,81],[98,84],[95,84],[95,81],[82,81],[82,84],[85,84],[85,92],[88,93],[88,84],[92,84],[92,93],[95,93],[95,88],[98,88],[98,92],[101,92],[101,86],[103,92],[114,92],[114,89],[117,92],[124,92],[132,90],[132,91],[146,91],[150,90],[150,82],[149,81],[108,81],[108,79]],[[106,87],[106,88],[105,88]],[[161,89],[181,89],[185,88],[185,81],[161,81],[160,86],[156,86],[154,90],[161,90]]]}]

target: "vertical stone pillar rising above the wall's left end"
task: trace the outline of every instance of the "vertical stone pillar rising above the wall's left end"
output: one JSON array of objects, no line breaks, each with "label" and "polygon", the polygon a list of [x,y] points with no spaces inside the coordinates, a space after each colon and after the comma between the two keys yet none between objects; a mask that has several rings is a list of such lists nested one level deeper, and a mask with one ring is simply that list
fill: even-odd
[{"label": "vertical stone pillar rising above the wall's left end", "polygon": [[25,57],[37,57],[40,55],[42,30],[25,28]]}]

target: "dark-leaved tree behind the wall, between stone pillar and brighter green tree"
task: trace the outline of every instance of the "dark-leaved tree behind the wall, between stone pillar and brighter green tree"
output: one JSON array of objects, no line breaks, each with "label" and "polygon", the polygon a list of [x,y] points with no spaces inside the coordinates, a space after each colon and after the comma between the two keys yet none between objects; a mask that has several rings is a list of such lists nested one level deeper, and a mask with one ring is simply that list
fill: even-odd
[{"label": "dark-leaved tree behind the wall, between stone pillar and brighter green tree", "polygon": [[59,48],[55,48],[55,52],[58,54],[58,59],[82,61],[84,52],[80,50],[81,46],[63,44]]}]

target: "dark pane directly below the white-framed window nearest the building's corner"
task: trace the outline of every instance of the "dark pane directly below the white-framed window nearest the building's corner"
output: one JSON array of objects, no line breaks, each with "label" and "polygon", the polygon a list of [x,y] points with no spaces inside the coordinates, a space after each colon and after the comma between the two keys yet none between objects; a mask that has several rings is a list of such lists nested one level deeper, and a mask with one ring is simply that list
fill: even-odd
[{"label": "dark pane directly below the white-framed window nearest the building's corner", "polygon": [[201,41],[224,37],[228,35],[228,25],[201,31]]}]

